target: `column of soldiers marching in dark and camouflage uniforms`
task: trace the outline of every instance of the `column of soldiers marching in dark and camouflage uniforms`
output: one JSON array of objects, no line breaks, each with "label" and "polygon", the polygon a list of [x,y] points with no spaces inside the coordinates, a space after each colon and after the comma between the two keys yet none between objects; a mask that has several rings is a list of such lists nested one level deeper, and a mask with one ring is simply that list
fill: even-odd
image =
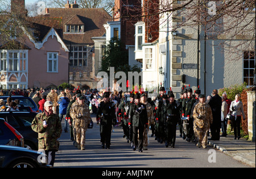
[{"label": "column of soldiers marching in dark and camouflage uniforms", "polygon": [[[124,93],[123,93],[124,94]],[[176,126],[179,124],[180,137],[193,141],[198,147],[206,147],[205,132],[212,122],[212,112],[204,95],[199,95],[199,87],[192,95],[192,89],[183,89],[180,98],[175,100],[171,88],[161,87],[155,100],[147,98],[147,93],[130,93],[130,100],[122,98],[119,104],[119,116],[122,118],[123,137],[131,143],[133,150],[147,150],[148,131],[151,126],[155,140],[166,147],[175,147]],[[69,114],[69,115],[68,115]],[[76,99],[69,103],[67,119],[71,124],[72,138],[79,149],[85,148],[85,132],[90,122],[89,108],[84,103],[84,96],[76,94]],[[96,120],[100,123],[101,148],[110,148],[112,127],[117,122],[115,103],[110,101],[106,91],[97,108]],[[71,134],[71,135],[72,135]],[[197,143],[198,142],[198,143]]]}]

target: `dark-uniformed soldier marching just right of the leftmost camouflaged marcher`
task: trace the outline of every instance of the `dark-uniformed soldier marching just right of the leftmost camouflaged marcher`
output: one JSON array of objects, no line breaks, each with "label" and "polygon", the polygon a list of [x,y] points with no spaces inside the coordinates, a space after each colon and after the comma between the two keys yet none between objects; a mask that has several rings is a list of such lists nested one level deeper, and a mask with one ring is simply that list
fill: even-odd
[{"label": "dark-uniformed soldier marching just right of the leftmost camouflaged marcher", "polygon": [[97,124],[100,122],[101,147],[110,148],[112,125],[117,123],[115,116],[115,103],[110,101],[109,92],[106,91],[102,97],[103,100],[98,105]]}]

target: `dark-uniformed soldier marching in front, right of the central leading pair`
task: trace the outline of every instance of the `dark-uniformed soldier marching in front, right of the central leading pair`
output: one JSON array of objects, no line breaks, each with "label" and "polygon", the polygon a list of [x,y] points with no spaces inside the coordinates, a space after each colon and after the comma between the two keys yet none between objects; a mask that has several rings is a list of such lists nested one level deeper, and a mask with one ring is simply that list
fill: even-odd
[{"label": "dark-uniformed soldier marching in front, right of the central leading pair", "polygon": [[178,101],[174,99],[174,93],[172,91],[168,91],[168,97],[170,102],[167,104],[167,118],[165,121],[166,125],[166,147],[169,145],[171,148],[174,148],[175,139],[176,139],[176,126],[177,121],[180,118],[179,107],[180,104]]}]

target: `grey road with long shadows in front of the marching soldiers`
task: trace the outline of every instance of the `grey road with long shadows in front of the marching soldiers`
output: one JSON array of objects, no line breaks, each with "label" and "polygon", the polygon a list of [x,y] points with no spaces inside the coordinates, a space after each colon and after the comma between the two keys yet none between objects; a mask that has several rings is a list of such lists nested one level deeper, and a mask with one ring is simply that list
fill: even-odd
[{"label": "grey road with long shadows in front of the marching soldiers", "polygon": [[[56,153],[54,167],[93,167],[93,168],[245,168],[250,167],[234,160],[208,145],[207,149],[197,148],[179,137],[177,132],[175,148],[166,148],[150,137],[148,151],[133,151],[131,145],[122,138],[122,128],[112,132],[110,149],[101,149],[100,127],[96,125],[86,131],[85,151],[73,146],[69,133],[60,138],[60,150]],[[64,125],[64,123],[62,122]],[[150,131],[151,135],[151,131]]]}]

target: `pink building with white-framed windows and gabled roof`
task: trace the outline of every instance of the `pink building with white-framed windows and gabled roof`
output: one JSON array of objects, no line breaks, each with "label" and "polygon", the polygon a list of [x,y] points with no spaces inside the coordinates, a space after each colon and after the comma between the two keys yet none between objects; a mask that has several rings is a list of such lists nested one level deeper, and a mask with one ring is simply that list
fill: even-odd
[{"label": "pink building with white-framed windows and gabled roof", "polygon": [[57,21],[24,18],[29,25],[19,27],[22,37],[0,41],[0,87],[48,88],[68,82],[69,49],[55,28]]}]

